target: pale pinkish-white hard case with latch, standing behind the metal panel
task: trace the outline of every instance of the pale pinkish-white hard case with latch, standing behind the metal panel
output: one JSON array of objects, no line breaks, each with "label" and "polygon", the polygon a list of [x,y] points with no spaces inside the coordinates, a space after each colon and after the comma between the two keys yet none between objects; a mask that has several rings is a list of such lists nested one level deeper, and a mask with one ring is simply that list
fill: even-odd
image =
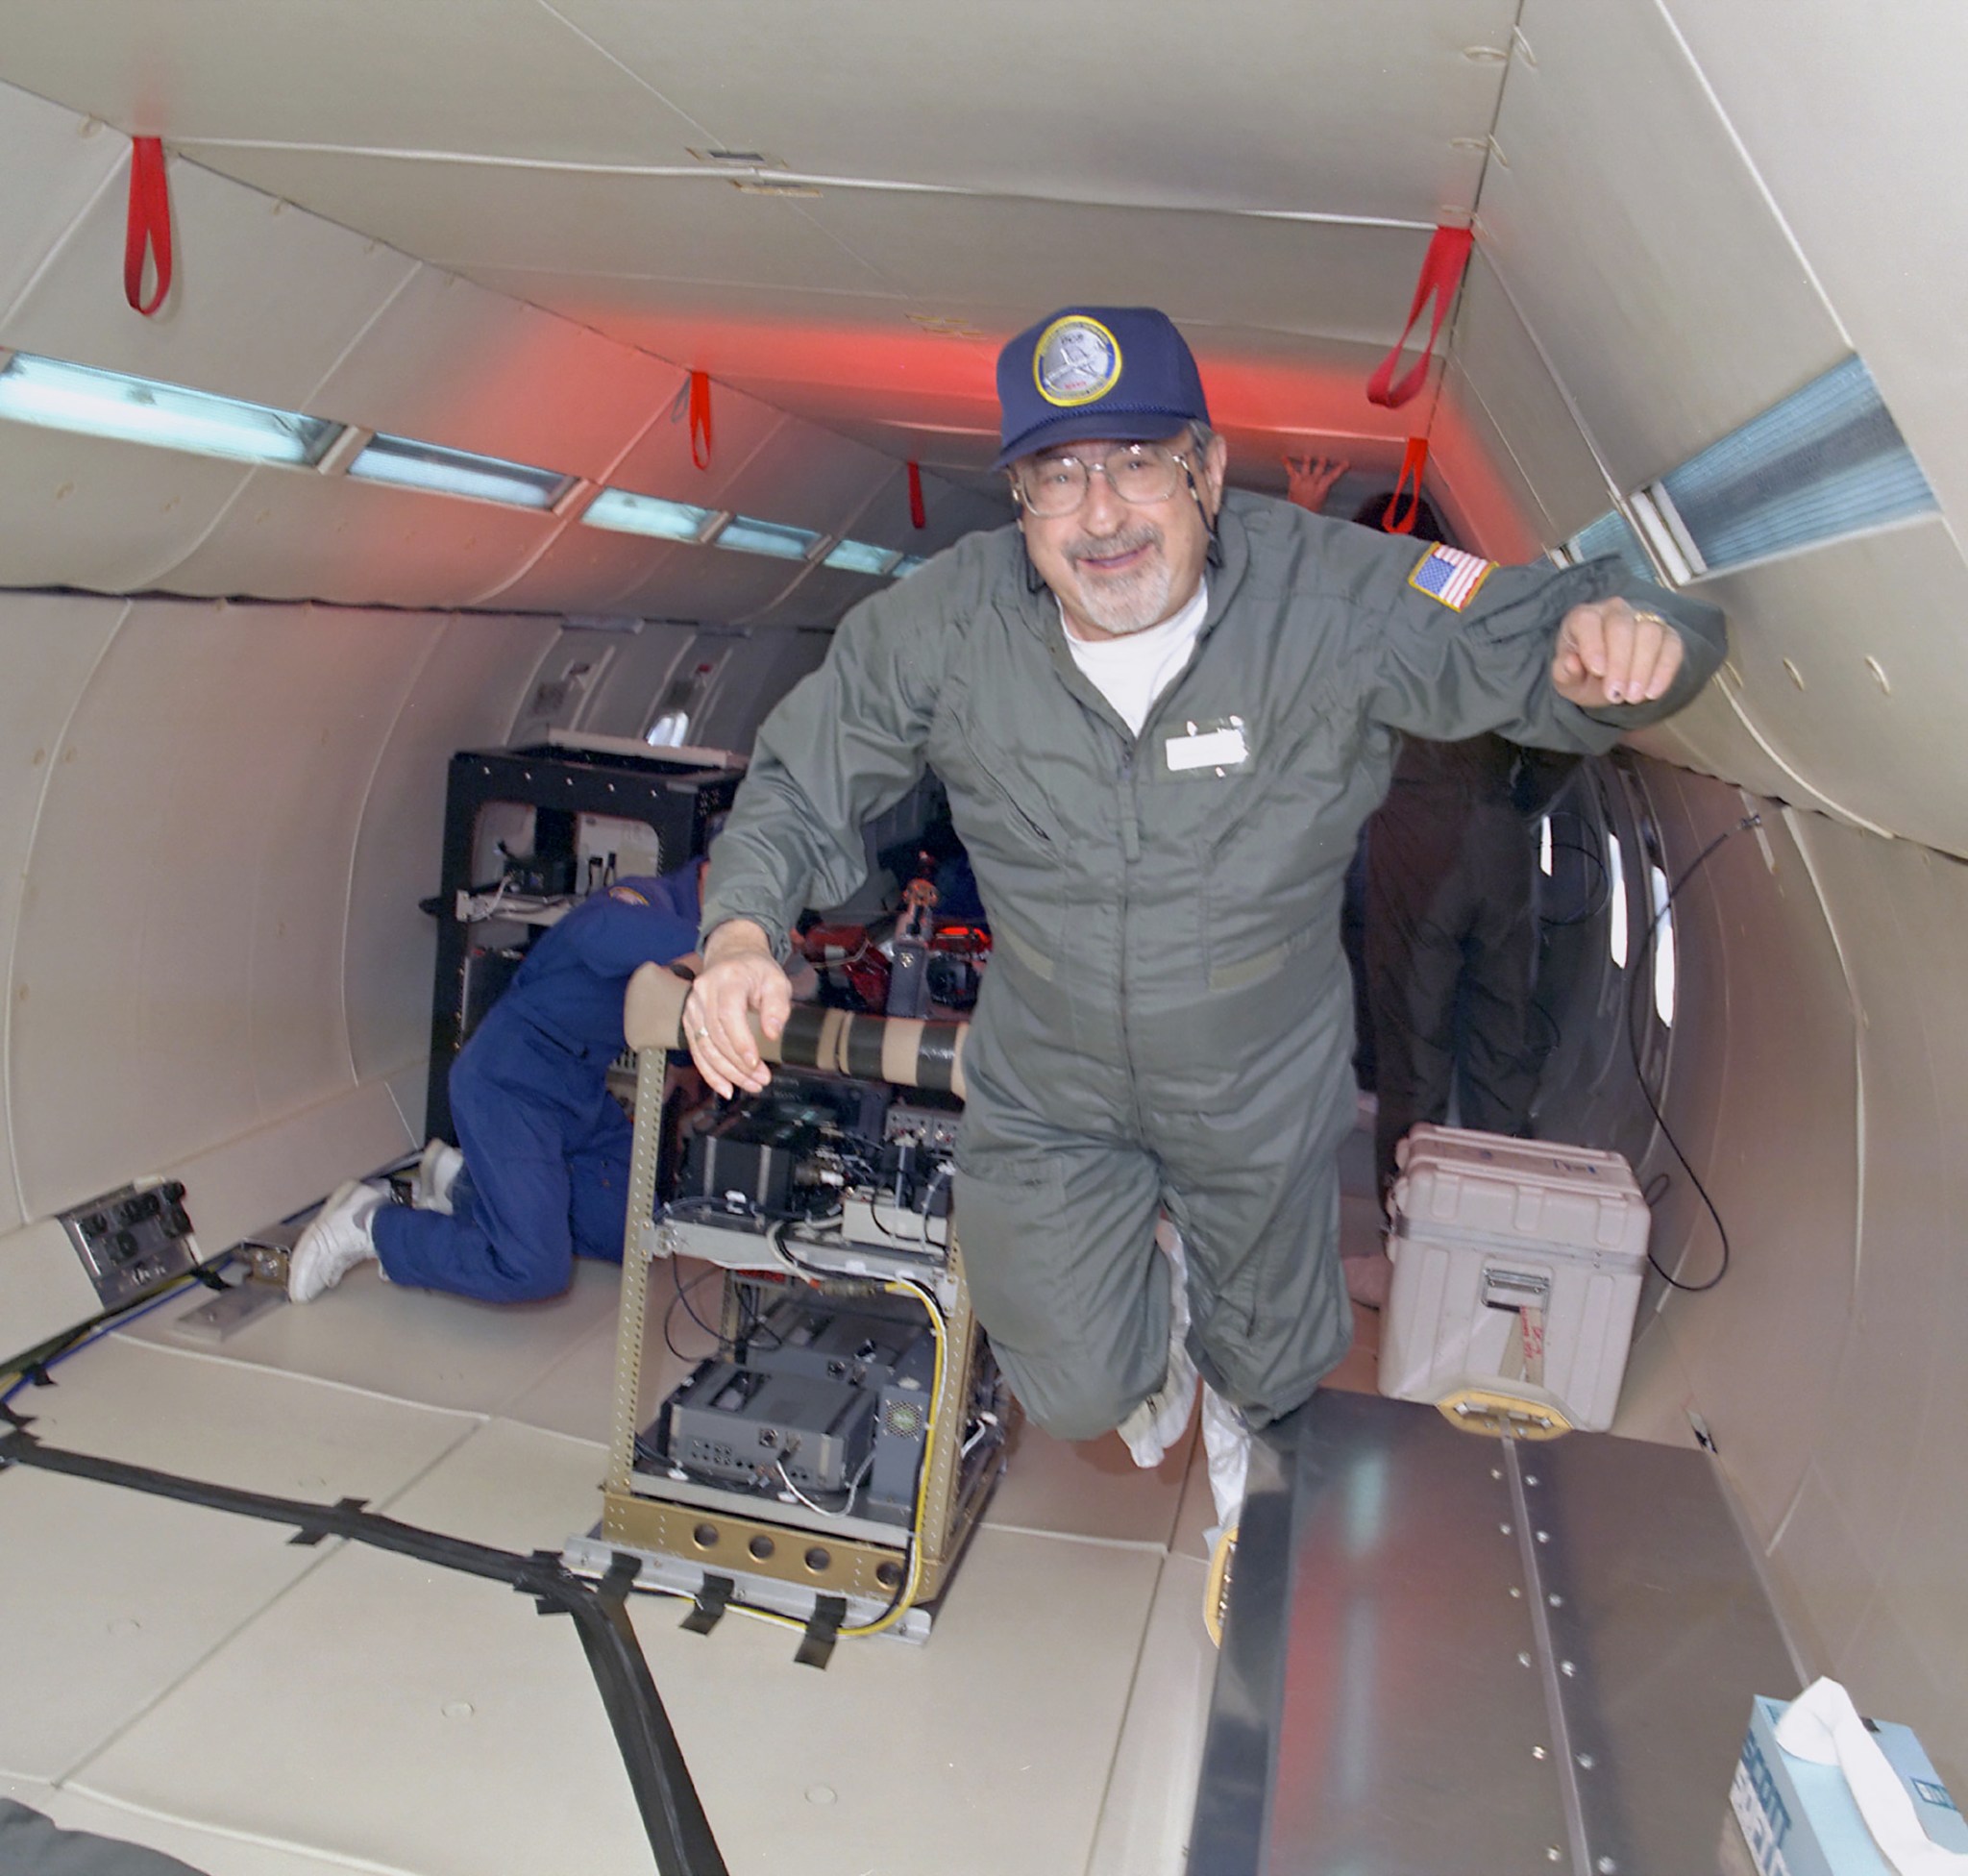
[{"label": "pale pinkish-white hard case with latch, standing behind the metal panel", "polygon": [[1423,1124],[1399,1165],[1380,1392],[1612,1425],[1651,1222],[1626,1159]]}]

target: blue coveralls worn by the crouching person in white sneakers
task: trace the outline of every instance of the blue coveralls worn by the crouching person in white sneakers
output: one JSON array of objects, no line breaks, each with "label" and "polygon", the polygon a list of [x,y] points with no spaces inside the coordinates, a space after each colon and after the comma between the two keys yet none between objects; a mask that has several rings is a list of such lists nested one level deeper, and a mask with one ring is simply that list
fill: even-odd
[{"label": "blue coveralls worn by the crouching person in white sneakers", "polygon": [[622,1260],[630,1124],[608,1063],[630,976],[697,949],[697,880],[695,860],[622,880],[533,943],[451,1065],[464,1150],[451,1215],[376,1215],[392,1283],[523,1303],[563,1291],[577,1256]]}]

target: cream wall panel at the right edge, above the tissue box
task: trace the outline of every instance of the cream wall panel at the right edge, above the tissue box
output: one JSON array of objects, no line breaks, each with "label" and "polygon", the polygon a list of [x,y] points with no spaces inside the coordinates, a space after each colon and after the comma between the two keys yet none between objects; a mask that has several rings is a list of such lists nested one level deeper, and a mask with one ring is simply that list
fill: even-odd
[{"label": "cream wall panel at the right edge, above the tissue box", "polygon": [[[1801,1344],[1838,1413],[1775,1545],[1866,1711],[1968,1774],[1968,868],[1905,841],[1795,817],[1862,1014],[1860,1256],[1844,1333]],[[1767,1136],[1765,1136],[1767,1138]],[[1797,1161],[1807,1165],[1809,1161]],[[1777,1404],[1783,1406],[1781,1402]],[[1952,1764],[1946,1764],[1946,1760]]]}]

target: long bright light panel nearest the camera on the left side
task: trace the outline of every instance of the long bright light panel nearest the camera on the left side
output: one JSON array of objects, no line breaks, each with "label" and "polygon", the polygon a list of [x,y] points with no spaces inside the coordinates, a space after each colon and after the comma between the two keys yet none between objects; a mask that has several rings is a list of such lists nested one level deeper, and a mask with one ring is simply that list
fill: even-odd
[{"label": "long bright light panel nearest the camera on the left side", "polygon": [[122,443],[157,443],[236,463],[307,467],[327,455],[340,423],[187,392],[124,372],[16,352],[0,370],[0,417]]}]

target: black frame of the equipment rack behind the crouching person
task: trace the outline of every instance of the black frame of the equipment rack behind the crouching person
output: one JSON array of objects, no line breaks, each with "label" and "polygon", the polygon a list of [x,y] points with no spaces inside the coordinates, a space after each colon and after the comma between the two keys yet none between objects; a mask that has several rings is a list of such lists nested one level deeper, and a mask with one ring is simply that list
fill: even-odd
[{"label": "black frame of the equipment rack behind the crouching person", "polygon": [[[651,750],[628,754],[561,744],[512,750],[459,750],[445,785],[445,848],[435,900],[437,972],[431,990],[431,1075],[425,1132],[453,1140],[451,1063],[476,1020],[506,988],[512,969],[472,957],[472,921],[459,917],[472,880],[478,817],[490,803],[533,809],[531,890],[575,888],[577,829],[583,815],[644,821],[655,833],[663,868],[705,850],[712,815],[732,805],[742,770],[705,768]],[[476,969],[474,969],[476,965]]]}]

